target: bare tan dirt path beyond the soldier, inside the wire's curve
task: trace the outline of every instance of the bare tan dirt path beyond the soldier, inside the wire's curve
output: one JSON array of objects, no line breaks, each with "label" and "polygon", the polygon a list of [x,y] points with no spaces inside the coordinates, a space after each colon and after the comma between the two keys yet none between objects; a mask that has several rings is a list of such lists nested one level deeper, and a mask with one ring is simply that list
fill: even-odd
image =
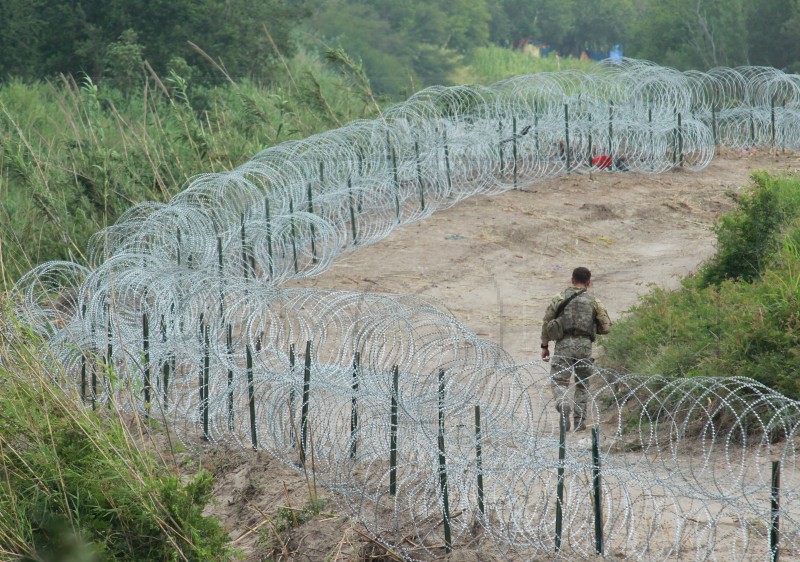
[{"label": "bare tan dirt path beyond the soldier, inside the wire's curve", "polygon": [[675,287],[714,251],[711,226],[753,170],[796,155],[727,152],[699,173],[572,174],[479,196],[340,257],[297,285],[439,299],[517,362],[538,354],[541,316],[574,267],[619,318],[651,283]]}]

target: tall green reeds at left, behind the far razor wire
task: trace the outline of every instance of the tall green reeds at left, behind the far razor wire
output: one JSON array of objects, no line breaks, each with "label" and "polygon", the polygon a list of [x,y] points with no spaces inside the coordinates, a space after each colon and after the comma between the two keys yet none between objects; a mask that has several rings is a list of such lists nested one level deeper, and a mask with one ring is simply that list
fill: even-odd
[{"label": "tall green reeds at left, behind the far razor wire", "polygon": [[81,261],[88,238],[136,202],[378,110],[317,57],[284,62],[269,86],[207,88],[171,72],[131,92],[85,77],[0,87],[2,287],[42,261]]}]

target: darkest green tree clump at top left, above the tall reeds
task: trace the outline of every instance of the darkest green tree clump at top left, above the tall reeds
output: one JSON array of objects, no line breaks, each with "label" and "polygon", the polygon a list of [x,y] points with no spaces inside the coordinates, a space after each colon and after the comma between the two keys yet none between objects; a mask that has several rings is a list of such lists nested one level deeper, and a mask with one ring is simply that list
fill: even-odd
[{"label": "darkest green tree clump at top left, above the tall reeds", "polygon": [[221,80],[191,41],[233,77],[268,79],[276,50],[294,53],[292,30],[307,16],[305,0],[3,0],[0,78],[101,78],[109,47],[131,30],[159,73],[178,56],[203,69],[206,80]]}]

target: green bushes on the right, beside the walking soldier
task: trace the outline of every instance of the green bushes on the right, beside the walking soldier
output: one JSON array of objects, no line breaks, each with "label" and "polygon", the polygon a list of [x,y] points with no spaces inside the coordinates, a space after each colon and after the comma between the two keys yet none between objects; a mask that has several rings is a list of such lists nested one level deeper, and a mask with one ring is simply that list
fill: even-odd
[{"label": "green bushes on the right, beside the walking soldier", "polygon": [[615,325],[604,344],[610,366],[750,377],[800,398],[800,177],[753,181],[717,227],[716,257]]}]

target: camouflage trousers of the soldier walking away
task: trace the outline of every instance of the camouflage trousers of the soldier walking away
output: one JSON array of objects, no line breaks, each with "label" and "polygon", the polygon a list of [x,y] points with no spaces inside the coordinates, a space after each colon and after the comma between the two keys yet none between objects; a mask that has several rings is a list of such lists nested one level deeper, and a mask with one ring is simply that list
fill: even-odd
[{"label": "camouflage trousers of the soldier walking away", "polygon": [[[550,364],[550,379],[553,398],[559,410],[566,406],[573,411],[576,418],[585,417],[589,400],[589,378],[593,372],[592,342],[589,338],[566,337],[556,342]],[[573,375],[575,398],[570,401],[567,392]]]}]

